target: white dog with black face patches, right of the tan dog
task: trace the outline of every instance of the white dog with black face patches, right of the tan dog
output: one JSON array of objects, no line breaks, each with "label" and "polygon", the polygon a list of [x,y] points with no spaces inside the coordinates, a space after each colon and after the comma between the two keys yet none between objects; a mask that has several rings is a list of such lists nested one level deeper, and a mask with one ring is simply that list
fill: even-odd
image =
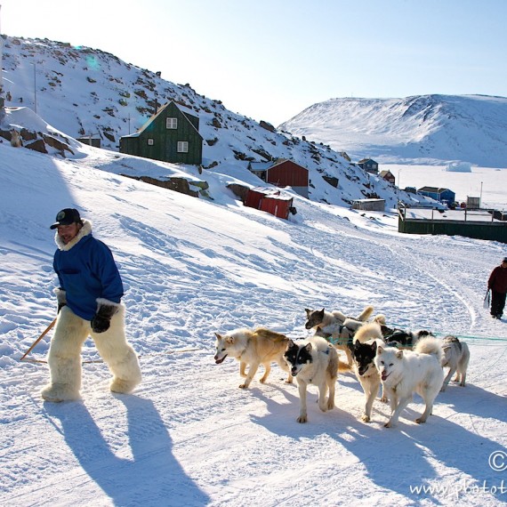
[{"label": "white dog with black face patches, right of the tan dog", "polygon": [[[306,390],[308,384],[318,386],[318,407],[323,412],[334,408],[334,390],[338,378],[339,358],[333,345],[320,336],[293,342],[289,340],[284,354],[299,389],[300,413],[297,422],[307,422]],[[329,396],[326,401],[326,393]]]}]

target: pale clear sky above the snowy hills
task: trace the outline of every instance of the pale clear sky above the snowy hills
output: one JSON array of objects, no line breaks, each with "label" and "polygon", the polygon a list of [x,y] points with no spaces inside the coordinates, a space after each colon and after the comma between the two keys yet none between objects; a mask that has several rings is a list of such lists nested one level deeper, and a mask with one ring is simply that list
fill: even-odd
[{"label": "pale clear sky above the snowy hills", "polygon": [[507,96],[507,0],[0,0],[0,29],[110,52],[279,125],[334,97]]}]

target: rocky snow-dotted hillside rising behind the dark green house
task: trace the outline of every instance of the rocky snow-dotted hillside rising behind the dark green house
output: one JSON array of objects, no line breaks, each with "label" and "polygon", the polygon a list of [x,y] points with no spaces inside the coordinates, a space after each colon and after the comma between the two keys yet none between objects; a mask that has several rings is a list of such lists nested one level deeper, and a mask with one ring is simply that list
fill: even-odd
[{"label": "rocky snow-dotted hillside rising behind the dark green house", "polygon": [[[135,132],[157,105],[172,100],[199,117],[205,173],[224,174],[256,186],[263,182],[246,169],[249,161],[290,158],[309,169],[312,200],[350,205],[351,200],[373,192],[386,198],[388,206],[398,200],[396,189],[386,181],[350,165],[323,143],[302,141],[232,113],[221,101],[205,98],[189,84],[165,81],[157,72],[100,50],[47,39],[3,38],[5,105],[28,107],[71,138],[100,137],[102,148],[117,151],[121,136]],[[196,173],[194,167],[179,170]],[[323,177],[337,179],[339,188]]]}]

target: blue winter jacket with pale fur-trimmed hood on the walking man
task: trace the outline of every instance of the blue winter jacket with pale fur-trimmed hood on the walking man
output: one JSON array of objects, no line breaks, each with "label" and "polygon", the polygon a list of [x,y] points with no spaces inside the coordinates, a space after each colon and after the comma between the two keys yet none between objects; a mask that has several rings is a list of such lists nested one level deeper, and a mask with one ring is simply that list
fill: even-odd
[{"label": "blue winter jacket with pale fur-trimmed hood on the walking man", "polygon": [[84,225],[65,245],[58,233],[58,250],[52,266],[65,291],[68,308],[77,316],[91,320],[97,311],[97,298],[119,303],[124,295],[122,279],[109,247],[92,236],[92,224]]}]

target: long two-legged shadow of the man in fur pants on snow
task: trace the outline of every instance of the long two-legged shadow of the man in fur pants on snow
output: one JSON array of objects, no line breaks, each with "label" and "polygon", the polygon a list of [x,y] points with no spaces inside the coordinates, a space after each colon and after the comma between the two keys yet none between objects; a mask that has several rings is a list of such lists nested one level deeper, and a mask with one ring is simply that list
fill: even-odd
[{"label": "long two-legged shadow of the man in fur pants on snow", "polygon": [[[132,457],[115,454],[83,403],[44,404],[47,413],[60,421],[68,447],[90,478],[115,505],[208,503],[209,497],[173,456],[171,437],[153,403],[135,396],[115,397],[126,407]],[[115,421],[108,422],[108,432],[116,428]]]}]

